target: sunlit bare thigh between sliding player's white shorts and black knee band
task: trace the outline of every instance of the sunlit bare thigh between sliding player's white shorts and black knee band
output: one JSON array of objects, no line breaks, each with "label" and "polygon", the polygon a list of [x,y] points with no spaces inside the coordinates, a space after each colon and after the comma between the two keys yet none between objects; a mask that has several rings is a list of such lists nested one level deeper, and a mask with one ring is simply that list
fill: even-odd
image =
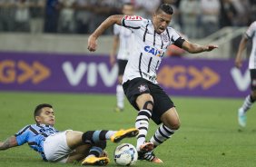
[{"label": "sunlit bare thigh between sliding player's white shorts and black knee band", "polygon": [[66,132],[66,142],[69,148],[74,149],[83,144],[82,132],[79,131],[67,131]]}]

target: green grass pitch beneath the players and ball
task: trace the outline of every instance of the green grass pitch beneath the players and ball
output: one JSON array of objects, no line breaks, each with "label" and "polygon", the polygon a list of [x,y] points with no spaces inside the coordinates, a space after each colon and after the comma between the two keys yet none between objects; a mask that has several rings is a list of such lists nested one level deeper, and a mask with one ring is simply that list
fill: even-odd
[{"label": "green grass pitch beneath the players and ball", "polygon": [[[164,162],[137,162],[136,166],[175,167],[250,167],[256,165],[256,106],[248,113],[248,125],[239,130],[237,109],[243,99],[172,97],[182,126],[172,139],[164,142],[155,153]],[[0,141],[16,133],[26,124],[34,123],[34,106],[54,105],[55,127],[62,131],[79,131],[133,127],[136,112],[125,102],[123,113],[113,113],[114,95],[75,93],[9,93],[0,92]],[[151,122],[148,138],[157,126]],[[135,144],[135,139],[123,142]],[[117,146],[108,142],[106,151],[113,162]],[[0,166],[79,166],[42,162],[38,153],[25,144],[0,152]]]}]

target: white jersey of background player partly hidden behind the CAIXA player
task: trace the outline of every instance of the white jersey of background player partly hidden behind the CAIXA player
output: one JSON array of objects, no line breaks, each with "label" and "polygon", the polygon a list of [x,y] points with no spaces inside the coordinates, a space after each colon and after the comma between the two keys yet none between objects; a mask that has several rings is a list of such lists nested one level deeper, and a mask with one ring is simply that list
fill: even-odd
[{"label": "white jersey of background player partly hidden behind the CAIXA player", "polygon": [[120,25],[113,25],[113,34],[119,37],[117,59],[128,60],[133,48],[133,32]]}]

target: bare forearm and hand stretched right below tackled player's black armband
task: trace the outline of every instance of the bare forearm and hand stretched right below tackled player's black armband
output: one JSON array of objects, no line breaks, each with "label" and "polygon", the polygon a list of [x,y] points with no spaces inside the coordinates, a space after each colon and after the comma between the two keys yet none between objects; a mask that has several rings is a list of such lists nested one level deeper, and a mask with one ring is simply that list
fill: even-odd
[{"label": "bare forearm and hand stretched right below tackled player's black armband", "polygon": [[218,45],[213,45],[213,44],[200,45],[200,44],[190,43],[189,41],[184,41],[184,43],[182,44],[182,49],[186,50],[191,54],[210,52],[215,48],[218,48]]}]

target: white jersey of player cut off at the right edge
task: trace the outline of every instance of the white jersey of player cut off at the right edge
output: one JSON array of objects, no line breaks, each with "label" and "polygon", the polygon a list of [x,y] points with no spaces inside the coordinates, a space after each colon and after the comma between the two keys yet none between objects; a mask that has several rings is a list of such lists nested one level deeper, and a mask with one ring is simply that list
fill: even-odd
[{"label": "white jersey of player cut off at the right edge", "polygon": [[249,26],[246,35],[252,40],[249,69],[256,69],[256,21]]}]

